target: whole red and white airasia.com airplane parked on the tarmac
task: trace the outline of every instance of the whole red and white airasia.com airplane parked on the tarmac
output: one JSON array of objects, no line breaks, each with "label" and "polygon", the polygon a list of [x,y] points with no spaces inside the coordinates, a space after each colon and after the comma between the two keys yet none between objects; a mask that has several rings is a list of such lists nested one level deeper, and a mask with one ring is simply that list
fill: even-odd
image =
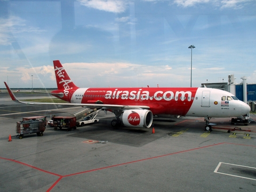
[{"label": "whole red and white airasia.com airplane parked on the tarmac", "polygon": [[25,102],[18,100],[6,82],[5,86],[15,102],[43,105],[73,105],[101,108],[115,114],[112,126],[149,128],[153,115],[204,117],[205,130],[212,130],[212,117],[246,116],[251,110],[235,95],[207,87],[77,87],[59,60],[53,61],[57,90],[54,97],[68,103]]}]

